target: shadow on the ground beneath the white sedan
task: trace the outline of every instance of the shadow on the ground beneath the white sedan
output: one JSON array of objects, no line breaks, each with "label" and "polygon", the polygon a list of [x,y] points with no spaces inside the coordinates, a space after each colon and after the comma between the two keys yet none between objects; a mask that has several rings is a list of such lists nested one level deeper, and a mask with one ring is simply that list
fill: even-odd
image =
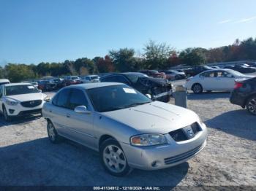
[{"label": "shadow on the ground beneath the white sedan", "polygon": [[230,98],[230,92],[203,92],[200,94],[189,92],[187,98],[189,100],[212,100],[218,98]]}]

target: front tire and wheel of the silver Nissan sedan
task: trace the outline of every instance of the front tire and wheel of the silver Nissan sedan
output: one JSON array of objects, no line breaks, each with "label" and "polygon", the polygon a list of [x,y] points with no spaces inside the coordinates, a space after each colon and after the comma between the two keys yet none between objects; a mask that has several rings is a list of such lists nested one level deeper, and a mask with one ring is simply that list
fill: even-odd
[{"label": "front tire and wheel of the silver Nissan sedan", "polygon": [[100,161],[105,171],[113,176],[126,176],[132,170],[118,141],[105,140],[99,147]]}]

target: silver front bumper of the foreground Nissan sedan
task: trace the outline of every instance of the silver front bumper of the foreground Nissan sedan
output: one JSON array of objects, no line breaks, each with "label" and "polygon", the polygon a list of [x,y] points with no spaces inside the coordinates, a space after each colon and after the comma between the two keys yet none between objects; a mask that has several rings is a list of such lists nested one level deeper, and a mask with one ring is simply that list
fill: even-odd
[{"label": "silver front bumper of the foreground Nissan sedan", "polygon": [[127,161],[132,168],[143,170],[157,170],[169,168],[173,165],[184,163],[197,155],[206,147],[207,129],[187,141],[174,141],[169,134],[165,134],[168,144],[152,147],[135,147],[130,144],[121,143]]}]

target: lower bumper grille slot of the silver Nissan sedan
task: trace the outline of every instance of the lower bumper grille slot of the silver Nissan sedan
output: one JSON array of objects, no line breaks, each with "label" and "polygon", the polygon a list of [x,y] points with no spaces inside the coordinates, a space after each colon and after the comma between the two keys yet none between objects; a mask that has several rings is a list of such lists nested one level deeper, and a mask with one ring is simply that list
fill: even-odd
[{"label": "lower bumper grille slot of the silver Nissan sedan", "polygon": [[176,155],[174,157],[167,157],[167,158],[165,158],[165,164],[170,165],[173,163],[177,163],[178,161],[185,160],[189,157],[192,157],[197,152],[199,152],[201,149],[203,149],[203,146],[204,146],[204,144],[200,144],[200,146],[196,147],[195,149],[192,149],[188,152],[184,152],[181,155]]}]

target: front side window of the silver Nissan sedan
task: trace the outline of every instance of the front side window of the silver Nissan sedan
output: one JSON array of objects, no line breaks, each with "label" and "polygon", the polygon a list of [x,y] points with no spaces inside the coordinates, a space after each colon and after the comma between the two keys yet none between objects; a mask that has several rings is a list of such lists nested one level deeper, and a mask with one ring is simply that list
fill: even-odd
[{"label": "front side window of the silver Nissan sedan", "polygon": [[82,90],[72,89],[69,99],[69,109],[74,110],[76,106],[88,107],[88,101]]}]

